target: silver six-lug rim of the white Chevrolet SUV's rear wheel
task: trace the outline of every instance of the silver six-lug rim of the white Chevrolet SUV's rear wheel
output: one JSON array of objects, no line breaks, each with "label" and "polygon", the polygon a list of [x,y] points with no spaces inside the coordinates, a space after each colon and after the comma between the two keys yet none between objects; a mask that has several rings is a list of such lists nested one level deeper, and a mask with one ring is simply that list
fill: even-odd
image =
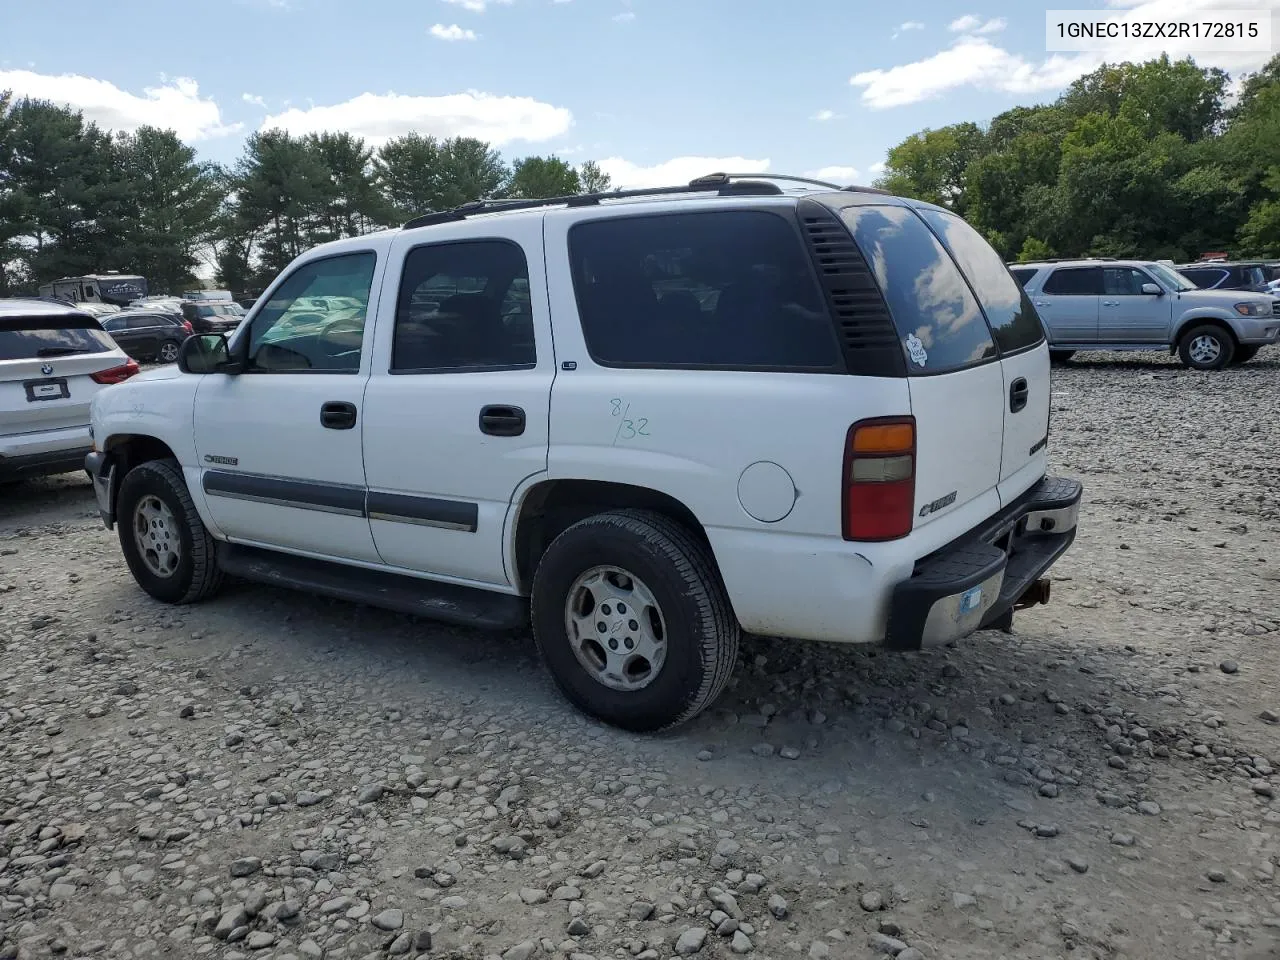
[{"label": "silver six-lug rim of the white Chevrolet SUV's rear wheel", "polygon": [[591,567],[564,602],[573,657],[609,690],[644,690],[667,660],[667,623],[653,591],[622,567]]}]

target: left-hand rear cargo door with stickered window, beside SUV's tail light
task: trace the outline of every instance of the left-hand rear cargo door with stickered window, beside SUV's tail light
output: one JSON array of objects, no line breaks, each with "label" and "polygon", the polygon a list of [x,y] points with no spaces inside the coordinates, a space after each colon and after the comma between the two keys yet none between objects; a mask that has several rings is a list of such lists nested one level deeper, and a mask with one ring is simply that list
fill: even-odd
[{"label": "left-hand rear cargo door with stickered window, beside SUV's tail light", "polygon": [[[975,512],[996,512],[1005,374],[973,291],[911,207],[868,204],[841,212],[876,273],[908,356],[915,527],[974,500],[986,500]],[[1012,284],[1004,264],[1000,269]]]}]

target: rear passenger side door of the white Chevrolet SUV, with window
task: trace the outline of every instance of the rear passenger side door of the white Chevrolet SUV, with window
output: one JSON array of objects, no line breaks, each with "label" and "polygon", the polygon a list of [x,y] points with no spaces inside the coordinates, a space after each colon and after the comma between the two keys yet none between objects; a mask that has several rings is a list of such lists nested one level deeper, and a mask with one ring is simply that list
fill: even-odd
[{"label": "rear passenger side door of the white Chevrolet SUV, with window", "polygon": [[[392,244],[365,394],[365,472],[390,566],[508,586],[516,489],[547,471],[552,352],[543,224],[467,221]],[[403,268],[402,268],[403,265]]]}]

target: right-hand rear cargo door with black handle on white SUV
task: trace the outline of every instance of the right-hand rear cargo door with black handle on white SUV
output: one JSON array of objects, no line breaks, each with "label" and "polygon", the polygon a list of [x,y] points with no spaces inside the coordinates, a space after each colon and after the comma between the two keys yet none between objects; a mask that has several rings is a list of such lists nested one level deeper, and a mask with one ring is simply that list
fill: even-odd
[{"label": "right-hand rear cargo door with black handle on white SUV", "polygon": [[1020,284],[977,230],[941,210],[922,209],[920,215],[960,265],[1000,347],[1000,499],[1010,503],[1048,468],[1050,358],[1044,329]]}]

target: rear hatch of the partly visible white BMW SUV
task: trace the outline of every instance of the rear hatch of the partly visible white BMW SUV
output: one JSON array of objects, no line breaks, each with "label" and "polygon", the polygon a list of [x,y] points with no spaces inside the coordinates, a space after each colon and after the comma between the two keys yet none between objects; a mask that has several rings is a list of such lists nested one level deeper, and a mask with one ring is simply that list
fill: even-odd
[{"label": "rear hatch of the partly visible white BMW SUV", "polygon": [[123,362],[88,316],[0,319],[0,434],[87,428],[92,374]]}]

